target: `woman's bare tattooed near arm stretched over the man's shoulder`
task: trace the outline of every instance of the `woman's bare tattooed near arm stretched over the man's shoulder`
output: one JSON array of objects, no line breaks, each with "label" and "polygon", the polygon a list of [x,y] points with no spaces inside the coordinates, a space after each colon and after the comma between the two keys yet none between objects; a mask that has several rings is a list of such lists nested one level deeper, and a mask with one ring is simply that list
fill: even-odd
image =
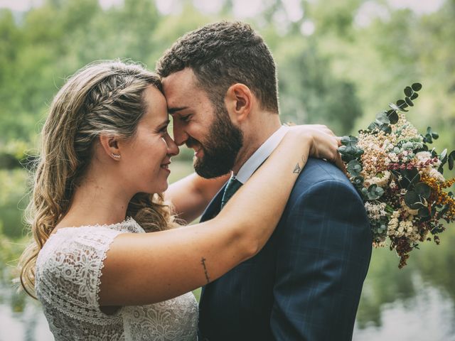
[{"label": "woman's bare tattooed near arm stretched over the man's shoulder", "polygon": [[314,129],[291,129],[215,219],[145,235],[119,234],[102,269],[100,305],[165,301],[257,254],[309,155],[335,161],[338,139]]}]

